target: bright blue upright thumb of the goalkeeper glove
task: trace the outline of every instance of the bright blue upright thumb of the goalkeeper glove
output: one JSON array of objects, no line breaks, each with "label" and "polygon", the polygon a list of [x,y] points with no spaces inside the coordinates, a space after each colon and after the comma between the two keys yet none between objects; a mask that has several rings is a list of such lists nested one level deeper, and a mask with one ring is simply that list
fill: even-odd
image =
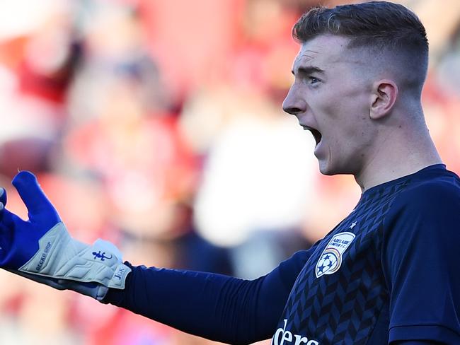
[{"label": "bright blue upright thumb of the goalkeeper glove", "polygon": [[12,184],[27,207],[30,221],[50,228],[61,221],[56,209],[46,197],[45,192],[38,184],[37,177],[32,172],[18,172],[13,178]]}]

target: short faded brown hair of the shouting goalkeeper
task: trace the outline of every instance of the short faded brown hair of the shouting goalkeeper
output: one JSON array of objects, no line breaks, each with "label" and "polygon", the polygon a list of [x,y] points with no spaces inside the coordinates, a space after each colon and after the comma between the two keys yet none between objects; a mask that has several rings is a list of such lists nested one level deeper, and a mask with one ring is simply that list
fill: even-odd
[{"label": "short faded brown hair of the shouting goalkeeper", "polygon": [[304,13],[292,29],[292,36],[300,43],[327,34],[349,38],[349,48],[389,52],[417,74],[412,81],[416,85],[412,86],[421,91],[428,68],[428,40],[418,16],[405,6],[372,1],[316,7]]}]

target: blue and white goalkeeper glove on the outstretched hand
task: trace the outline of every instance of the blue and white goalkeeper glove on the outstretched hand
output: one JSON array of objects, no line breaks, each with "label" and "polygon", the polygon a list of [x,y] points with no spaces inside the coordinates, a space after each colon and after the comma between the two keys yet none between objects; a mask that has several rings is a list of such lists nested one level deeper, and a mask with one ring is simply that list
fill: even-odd
[{"label": "blue and white goalkeeper glove on the outstretched hand", "polygon": [[21,171],[13,186],[28,209],[28,221],[5,209],[0,188],[0,267],[59,290],[103,300],[109,288],[125,288],[130,267],[110,242],[74,240],[31,172]]}]

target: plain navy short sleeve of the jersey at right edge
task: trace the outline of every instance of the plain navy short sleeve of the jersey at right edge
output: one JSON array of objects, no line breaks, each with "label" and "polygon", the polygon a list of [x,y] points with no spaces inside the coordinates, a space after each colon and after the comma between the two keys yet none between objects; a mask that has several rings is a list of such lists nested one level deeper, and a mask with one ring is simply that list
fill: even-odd
[{"label": "plain navy short sleeve of the jersey at right edge", "polygon": [[459,223],[460,181],[448,170],[414,178],[394,199],[382,251],[390,341],[422,337],[458,344]]}]

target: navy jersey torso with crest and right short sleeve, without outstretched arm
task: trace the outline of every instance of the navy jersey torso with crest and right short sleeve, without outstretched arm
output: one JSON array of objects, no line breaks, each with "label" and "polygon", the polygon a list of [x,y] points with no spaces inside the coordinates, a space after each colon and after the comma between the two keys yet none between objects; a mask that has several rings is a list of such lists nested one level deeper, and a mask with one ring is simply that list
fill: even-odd
[{"label": "navy jersey torso with crest and right short sleeve, without outstretched arm", "polygon": [[460,344],[459,245],[460,181],[443,165],[367,190],[311,248],[272,344]]}]

